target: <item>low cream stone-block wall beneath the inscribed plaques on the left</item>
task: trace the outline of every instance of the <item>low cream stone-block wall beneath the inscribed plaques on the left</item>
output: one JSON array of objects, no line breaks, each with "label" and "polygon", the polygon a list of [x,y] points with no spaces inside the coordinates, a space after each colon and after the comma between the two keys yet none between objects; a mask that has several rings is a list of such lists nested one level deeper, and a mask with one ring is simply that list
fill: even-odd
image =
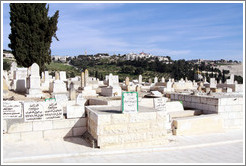
[{"label": "low cream stone-block wall beneath the inscribed plaques on the left", "polygon": [[4,141],[35,141],[81,136],[87,130],[87,118],[23,122],[4,120]]}]

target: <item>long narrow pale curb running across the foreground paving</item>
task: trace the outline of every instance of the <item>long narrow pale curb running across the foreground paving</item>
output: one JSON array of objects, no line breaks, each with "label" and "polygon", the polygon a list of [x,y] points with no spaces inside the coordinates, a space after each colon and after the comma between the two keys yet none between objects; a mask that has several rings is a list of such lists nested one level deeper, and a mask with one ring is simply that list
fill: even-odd
[{"label": "long narrow pale curb running across the foreground paving", "polygon": [[95,155],[113,155],[113,154],[122,154],[122,153],[136,153],[136,152],[155,152],[155,151],[168,151],[168,150],[179,150],[179,149],[189,149],[189,148],[198,148],[198,147],[207,147],[223,144],[233,144],[243,142],[242,139],[223,141],[223,142],[213,142],[213,143],[204,143],[196,145],[183,145],[183,146],[173,146],[173,147],[155,147],[155,148],[141,148],[141,149],[123,149],[123,150],[98,150],[93,152],[80,152],[80,153],[70,153],[70,154],[52,154],[52,155],[38,155],[38,156],[28,156],[28,157],[13,157],[3,159],[3,163],[11,162],[24,162],[27,160],[39,160],[39,159],[50,159],[50,158],[62,158],[62,157],[77,157],[77,156],[95,156]]}]

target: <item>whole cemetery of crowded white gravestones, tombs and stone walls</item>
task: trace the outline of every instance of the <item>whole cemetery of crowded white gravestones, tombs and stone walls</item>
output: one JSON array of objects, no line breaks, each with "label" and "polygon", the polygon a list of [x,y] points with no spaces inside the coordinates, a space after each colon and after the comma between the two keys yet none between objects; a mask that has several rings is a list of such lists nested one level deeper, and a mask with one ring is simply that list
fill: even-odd
[{"label": "whole cemetery of crowded white gravestones, tombs and stone walls", "polygon": [[[41,75],[41,77],[40,77]],[[153,80],[153,83],[152,83]],[[40,74],[15,62],[3,73],[3,141],[79,137],[96,148],[168,144],[169,136],[218,133],[243,127],[243,85],[187,78],[119,82],[65,71]],[[88,136],[89,135],[89,136]]]}]

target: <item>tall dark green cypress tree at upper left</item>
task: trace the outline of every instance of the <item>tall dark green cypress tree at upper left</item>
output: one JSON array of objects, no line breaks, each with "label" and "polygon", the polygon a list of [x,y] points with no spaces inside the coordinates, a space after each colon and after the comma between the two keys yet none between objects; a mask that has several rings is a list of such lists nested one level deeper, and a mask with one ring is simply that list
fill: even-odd
[{"label": "tall dark green cypress tree at upper left", "polygon": [[50,44],[52,37],[56,40],[59,11],[48,16],[46,3],[11,3],[9,48],[18,65],[29,67],[37,63],[40,72],[45,63],[51,62]]}]

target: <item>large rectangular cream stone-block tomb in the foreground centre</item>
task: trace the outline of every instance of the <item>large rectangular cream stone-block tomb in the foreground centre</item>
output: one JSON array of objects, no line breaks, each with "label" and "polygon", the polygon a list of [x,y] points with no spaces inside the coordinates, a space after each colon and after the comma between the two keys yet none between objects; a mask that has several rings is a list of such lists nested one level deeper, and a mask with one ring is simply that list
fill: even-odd
[{"label": "large rectangular cream stone-block tomb in the foreground centre", "polygon": [[100,148],[130,148],[168,142],[165,111],[139,107],[122,113],[120,107],[87,106],[88,132]]}]

